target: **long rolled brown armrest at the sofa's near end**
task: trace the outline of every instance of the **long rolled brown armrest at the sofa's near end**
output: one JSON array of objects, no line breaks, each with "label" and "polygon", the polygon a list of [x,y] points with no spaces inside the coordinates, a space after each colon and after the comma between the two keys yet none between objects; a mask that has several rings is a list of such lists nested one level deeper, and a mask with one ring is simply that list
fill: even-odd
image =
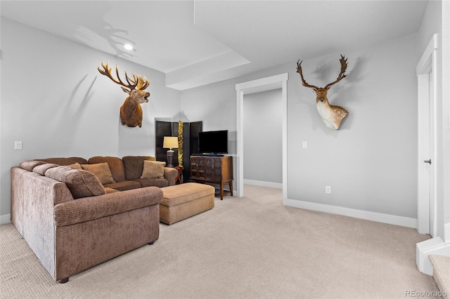
[{"label": "long rolled brown armrest at the sofa's near end", "polygon": [[109,215],[152,206],[162,201],[158,187],[144,187],[122,192],[113,192],[96,197],[84,197],[57,204],[53,208],[55,225],[65,226],[86,222]]}]

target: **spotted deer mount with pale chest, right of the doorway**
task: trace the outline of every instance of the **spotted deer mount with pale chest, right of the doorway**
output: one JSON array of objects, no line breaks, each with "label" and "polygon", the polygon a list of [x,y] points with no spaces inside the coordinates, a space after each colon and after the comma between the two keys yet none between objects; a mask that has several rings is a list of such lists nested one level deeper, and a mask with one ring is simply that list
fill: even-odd
[{"label": "spotted deer mount with pale chest, right of the doorway", "polygon": [[[299,61],[300,61],[300,59],[299,59]],[[321,115],[323,123],[328,128],[332,128],[333,130],[338,130],[342,119],[344,119],[344,117],[347,117],[347,114],[349,114],[349,112],[342,107],[330,105],[330,103],[328,102],[328,98],[326,98],[326,93],[328,93],[328,90],[330,89],[330,87],[333,86],[334,84],[338,83],[345,77],[347,77],[344,74],[345,69],[347,69],[347,65],[348,65],[347,59],[345,58],[345,56],[340,55],[339,61],[340,61],[340,73],[339,73],[338,79],[336,79],[334,82],[332,82],[330,84],[327,84],[325,87],[321,87],[321,88],[314,86],[314,85],[309,85],[309,84],[307,84],[307,81],[304,81],[303,73],[302,73],[302,61],[300,61],[300,63],[297,61],[297,73],[299,73],[300,77],[302,77],[303,86],[312,88],[314,93],[316,93],[316,95],[317,95],[317,97],[316,97],[317,111]]]}]

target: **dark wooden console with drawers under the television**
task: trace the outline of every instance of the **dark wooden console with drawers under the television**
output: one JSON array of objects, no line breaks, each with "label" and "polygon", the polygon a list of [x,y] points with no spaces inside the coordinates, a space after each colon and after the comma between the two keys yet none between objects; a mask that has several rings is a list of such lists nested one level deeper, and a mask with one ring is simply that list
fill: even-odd
[{"label": "dark wooden console with drawers under the television", "polygon": [[[219,184],[220,199],[224,199],[224,193],[233,196],[233,157],[197,155],[191,156],[190,161],[193,182]],[[230,190],[224,190],[227,182]]]}]

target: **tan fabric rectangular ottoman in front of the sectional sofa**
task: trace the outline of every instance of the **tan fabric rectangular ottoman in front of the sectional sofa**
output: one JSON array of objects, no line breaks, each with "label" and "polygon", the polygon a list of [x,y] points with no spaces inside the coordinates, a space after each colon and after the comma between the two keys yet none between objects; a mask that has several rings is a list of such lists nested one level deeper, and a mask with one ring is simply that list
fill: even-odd
[{"label": "tan fabric rectangular ottoman in front of the sectional sofa", "polygon": [[160,222],[171,225],[214,208],[214,187],[197,182],[162,187]]}]

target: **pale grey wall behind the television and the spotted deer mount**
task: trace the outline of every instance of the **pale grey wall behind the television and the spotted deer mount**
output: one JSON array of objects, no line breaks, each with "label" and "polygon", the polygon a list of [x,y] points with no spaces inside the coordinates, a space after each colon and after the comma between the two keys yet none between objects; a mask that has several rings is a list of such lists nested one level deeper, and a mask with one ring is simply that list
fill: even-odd
[{"label": "pale grey wall behind the television and the spotted deer mount", "polygon": [[[333,105],[349,110],[339,131],[322,123],[311,89],[301,85],[295,61],[250,76],[181,94],[181,107],[202,119],[236,111],[235,84],[289,73],[288,199],[416,218],[417,85],[416,35],[346,51],[347,78],[328,93]],[[301,58],[301,57],[299,57]],[[340,70],[340,53],[304,60],[309,84],[325,86]],[[224,105],[216,109],[212,99]],[[214,118],[204,114],[205,126]],[[211,121],[211,124],[209,124]],[[221,119],[236,129],[236,118]],[[308,149],[302,150],[302,141]],[[245,162],[244,162],[245,163]],[[325,194],[325,186],[332,194]]]}]

